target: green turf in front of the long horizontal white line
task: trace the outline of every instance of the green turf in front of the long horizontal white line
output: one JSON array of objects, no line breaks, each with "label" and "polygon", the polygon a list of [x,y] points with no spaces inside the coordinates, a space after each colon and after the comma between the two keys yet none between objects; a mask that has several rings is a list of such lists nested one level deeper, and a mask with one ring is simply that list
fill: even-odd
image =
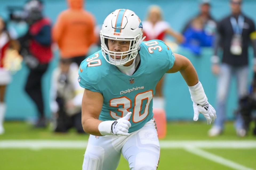
[{"label": "green turf in front of the long horizontal white line", "polygon": [[[255,151],[250,150],[207,150],[211,153],[235,161],[249,168],[255,168]],[[1,169],[81,169],[84,150],[82,149],[2,149]],[[158,169],[232,169],[210,160],[190,154],[182,149],[161,150]],[[118,170],[129,170],[128,162],[122,157]]]}]

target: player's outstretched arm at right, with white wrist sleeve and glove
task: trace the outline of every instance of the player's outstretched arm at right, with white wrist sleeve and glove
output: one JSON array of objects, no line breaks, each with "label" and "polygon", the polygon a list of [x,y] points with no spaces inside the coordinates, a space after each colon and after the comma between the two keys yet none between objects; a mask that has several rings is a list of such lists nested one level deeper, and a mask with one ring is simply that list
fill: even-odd
[{"label": "player's outstretched arm at right, with white wrist sleeve and glove", "polygon": [[216,111],[208,102],[203,86],[198,80],[194,66],[189,59],[182,55],[174,54],[174,57],[175,61],[173,67],[166,73],[176,73],[178,71],[181,73],[189,86],[191,100],[193,101],[194,121],[197,121],[199,113],[202,113],[206,118],[207,123],[211,124],[216,119]]}]

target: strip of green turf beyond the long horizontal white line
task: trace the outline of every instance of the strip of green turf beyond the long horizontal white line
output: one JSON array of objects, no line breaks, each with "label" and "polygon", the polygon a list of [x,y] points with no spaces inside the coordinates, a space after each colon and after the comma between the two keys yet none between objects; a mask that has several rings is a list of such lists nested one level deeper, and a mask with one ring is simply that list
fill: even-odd
[{"label": "strip of green turf beyond the long horizontal white line", "polygon": [[[70,133],[53,133],[51,126],[46,129],[34,129],[31,124],[24,122],[5,122],[6,133],[0,139],[51,139],[51,140],[87,140],[89,135],[77,134],[73,129]],[[251,126],[254,126],[253,124]],[[252,140],[255,136],[249,132],[245,138],[237,137],[233,123],[228,122],[222,135],[211,138],[207,131],[211,126],[205,122],[169,122],[167,134],[163,140]]]}]

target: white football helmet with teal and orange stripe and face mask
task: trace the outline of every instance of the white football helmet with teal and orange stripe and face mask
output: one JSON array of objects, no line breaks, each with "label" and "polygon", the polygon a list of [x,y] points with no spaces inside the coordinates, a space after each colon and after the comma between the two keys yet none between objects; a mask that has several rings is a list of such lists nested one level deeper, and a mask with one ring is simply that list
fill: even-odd
[{"label": "white football helmet with teal and orange stripe and face mask", "polygon": [[[137,56],[139,45],[143,41],[142,35],[141,20],[133,11],[127,9],[115,10],[104,20],[100,31],[101,50],[104,58],[108,63],[115,66],[125,65]],[[107,39],[130,41],[129,50],[124,52],[110,51]],[[121,59],[116,60],[116,56],[121,56]]]}]

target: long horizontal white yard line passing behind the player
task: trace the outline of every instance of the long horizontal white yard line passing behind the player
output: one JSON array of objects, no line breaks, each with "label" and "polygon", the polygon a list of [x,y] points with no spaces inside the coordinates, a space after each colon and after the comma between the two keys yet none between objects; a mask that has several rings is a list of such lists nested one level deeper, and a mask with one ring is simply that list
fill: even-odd
[{"label": "long horizontal white yard line passing behind the player", "polygon": [[[86,148],[78,140],[1,140],[0,148]],[[160,141],[161,148],[256,148],[253,141]]]}]

